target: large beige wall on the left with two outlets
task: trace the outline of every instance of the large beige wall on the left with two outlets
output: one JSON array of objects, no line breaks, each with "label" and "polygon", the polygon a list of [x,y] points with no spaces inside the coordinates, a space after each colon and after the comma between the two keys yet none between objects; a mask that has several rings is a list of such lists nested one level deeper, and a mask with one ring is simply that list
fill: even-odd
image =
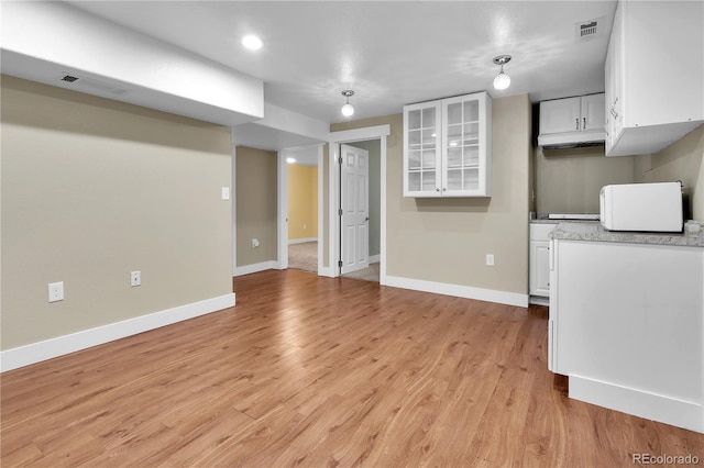
[{"label": "large beige wall on the left with two outlets", "polygon": [[230,129],[8,76],[1,92],[2,349],[232,292]]}]

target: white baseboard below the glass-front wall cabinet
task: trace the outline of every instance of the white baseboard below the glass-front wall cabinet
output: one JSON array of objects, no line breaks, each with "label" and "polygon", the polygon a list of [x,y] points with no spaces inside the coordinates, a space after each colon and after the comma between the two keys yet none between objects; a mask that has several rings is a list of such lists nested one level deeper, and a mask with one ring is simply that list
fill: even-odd
[{"label": "white baseboard below the glass-front wall cabinet", "polygon": [[426,281],[421,279],[386,276],[386,286],[413,289],[415,291],[435,292],[437,294],[454,296],[457,298],[476,299],[477,301],[497,302],[499,304],[528,307],[528,294],[517,292],[496,291],[493,289],[473,288],[471,286],[448,285],[444,282]]}]

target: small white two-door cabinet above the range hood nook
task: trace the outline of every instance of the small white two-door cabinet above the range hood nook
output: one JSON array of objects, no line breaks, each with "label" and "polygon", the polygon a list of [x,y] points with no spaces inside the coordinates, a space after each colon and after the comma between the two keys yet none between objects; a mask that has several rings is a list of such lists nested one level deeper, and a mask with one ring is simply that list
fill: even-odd
[{"label": "small white two-door cabinet above the range hood nook", "polygon": [[604,93],[540,102],[540,146],[598,143],[604,131]]}]

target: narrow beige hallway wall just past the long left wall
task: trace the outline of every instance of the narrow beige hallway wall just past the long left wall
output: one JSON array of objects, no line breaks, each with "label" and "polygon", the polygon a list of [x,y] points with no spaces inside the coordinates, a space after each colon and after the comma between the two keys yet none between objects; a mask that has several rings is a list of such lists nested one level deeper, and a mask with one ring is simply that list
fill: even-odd
[{"label": "narrow beige hallway wall just past the long left wall", "polygon": [[[276,153],[237,147],[237,266],[277,259]],[[252,247],[256,238],[260,246]]]}]

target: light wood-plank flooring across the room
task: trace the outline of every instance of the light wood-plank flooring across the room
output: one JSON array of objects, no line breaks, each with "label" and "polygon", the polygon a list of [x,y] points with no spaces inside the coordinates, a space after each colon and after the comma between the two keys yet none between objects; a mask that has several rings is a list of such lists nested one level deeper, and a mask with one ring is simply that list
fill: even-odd
[{"label": "light wood-plank flooring across the room", "polygon": [[232,309],[3,374],[2,467],[704,460],[702,434],[568,399],[544,308],[295,270],[234,289]]}]

